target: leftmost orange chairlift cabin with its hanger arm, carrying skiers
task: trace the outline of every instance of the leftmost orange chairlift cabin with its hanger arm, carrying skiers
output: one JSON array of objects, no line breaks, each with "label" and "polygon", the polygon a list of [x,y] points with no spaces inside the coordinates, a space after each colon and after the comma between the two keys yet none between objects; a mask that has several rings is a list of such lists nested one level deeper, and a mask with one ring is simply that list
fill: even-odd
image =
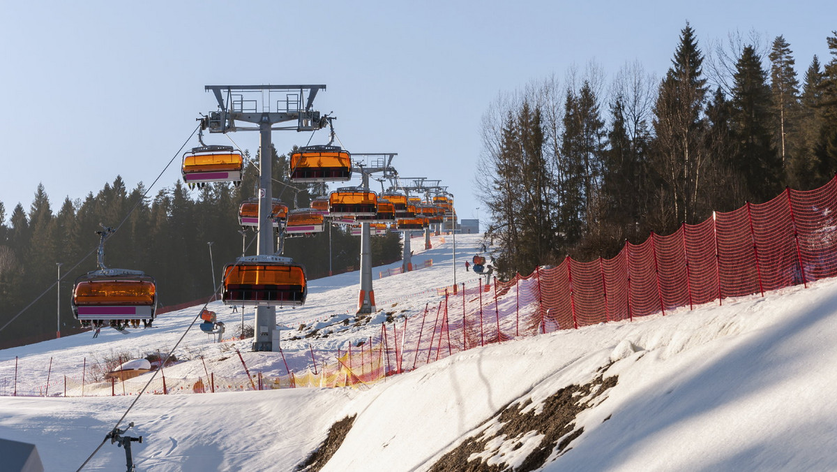
[{"label": "leftmost orange chairlift cabin with its hanger arm, carrying skiers", "polygon": [[103,226],[100,235],[99,269],[75,279],[71,307],[82,326],[137,328],[140,321],[151,326],[157,309],[157,284],[145,272],[105,267],[105,239],[115,230]]}]

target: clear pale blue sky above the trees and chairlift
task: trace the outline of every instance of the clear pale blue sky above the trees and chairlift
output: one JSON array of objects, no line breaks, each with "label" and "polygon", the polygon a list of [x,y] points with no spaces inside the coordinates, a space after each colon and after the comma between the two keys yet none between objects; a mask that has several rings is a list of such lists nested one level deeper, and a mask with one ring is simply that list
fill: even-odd
[{"label": "clear pale blue sky above the trees and chairlift", "polygon": [[[0,0],[7,218],[43,183],[53,210],[117,174],[147,185],[215,109],[205,85],[326,84],[354,153],[398,153],[403,176],[441,179],[475,218],[480,117],[499,93],[595,60],[658,76],[680,29],[701,49],[735,31],[783,34],[800,75],[830,60],[834,3],[798,2],[11,2]],[[801,80],[801,77],[800,77]],[[604,107],[606,110],[606,107]],[[324,143],[325,132],[314,142]],[[233,136],[254,153],[258,134]],[[281,152],[309,133],[275,132]],[[227,143],[210,136],[207,143]],[[197,140],[188,147],[197,146]],[[179,178],[178,156],[159,186]],[[485,216],[485,209],[482,210]],[[112,224],[111,222],[110,224]],[[231,222],[232,224],[232,222]]]}]

